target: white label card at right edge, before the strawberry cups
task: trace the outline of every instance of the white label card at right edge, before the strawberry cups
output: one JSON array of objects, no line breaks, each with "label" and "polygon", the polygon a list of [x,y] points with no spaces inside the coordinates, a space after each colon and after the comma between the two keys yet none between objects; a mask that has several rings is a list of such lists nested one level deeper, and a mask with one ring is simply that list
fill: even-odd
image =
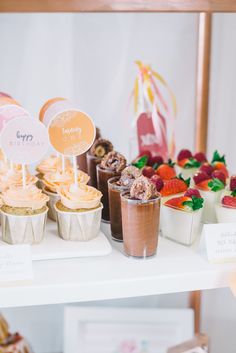
[{"label": "white label card at right edge, before the strawberry cups", "polygon": [[236,262],[236,223],[205,224],[203,234],[209,262]]}]

